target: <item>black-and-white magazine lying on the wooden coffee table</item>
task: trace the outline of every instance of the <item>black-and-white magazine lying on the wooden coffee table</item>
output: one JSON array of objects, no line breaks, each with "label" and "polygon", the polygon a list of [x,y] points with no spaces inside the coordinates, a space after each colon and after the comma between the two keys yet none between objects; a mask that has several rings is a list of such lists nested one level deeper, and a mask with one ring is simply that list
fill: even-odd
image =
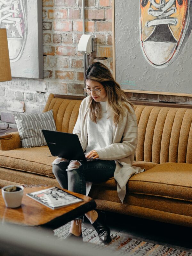
[{"label": "black-and-white magazine lying on the wooden coffee table", "polygon": [[39,190],[26,195],[53,210],[83,201],[83,199],[73,196],[57,187]]}]

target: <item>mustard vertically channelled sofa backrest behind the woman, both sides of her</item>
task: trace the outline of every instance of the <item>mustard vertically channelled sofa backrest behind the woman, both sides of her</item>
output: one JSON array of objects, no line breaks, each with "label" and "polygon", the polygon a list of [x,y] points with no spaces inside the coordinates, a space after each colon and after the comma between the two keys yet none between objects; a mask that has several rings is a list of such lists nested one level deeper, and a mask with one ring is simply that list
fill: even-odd
[{"label": "mustard vertically channelled sofa backrest behind the woman, both sides of her", "polygon": [[[44,111],[53,109],[57,131],[72,133],[82,100],[49,95]],[[192,163],[192,109],[135,106],[138,146],[135,160]]]}]

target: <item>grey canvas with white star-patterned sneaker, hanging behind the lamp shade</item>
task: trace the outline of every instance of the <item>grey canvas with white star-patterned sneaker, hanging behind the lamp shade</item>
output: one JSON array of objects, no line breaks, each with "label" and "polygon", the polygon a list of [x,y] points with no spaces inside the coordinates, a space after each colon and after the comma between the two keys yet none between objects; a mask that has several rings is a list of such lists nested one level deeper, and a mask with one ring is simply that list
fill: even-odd
[{"label": "grey canvas with white star-patterned sneaker, hanging behind the lamp shade", "polygon": [[42,0],[0,0],[14,77],[43,78]]}]

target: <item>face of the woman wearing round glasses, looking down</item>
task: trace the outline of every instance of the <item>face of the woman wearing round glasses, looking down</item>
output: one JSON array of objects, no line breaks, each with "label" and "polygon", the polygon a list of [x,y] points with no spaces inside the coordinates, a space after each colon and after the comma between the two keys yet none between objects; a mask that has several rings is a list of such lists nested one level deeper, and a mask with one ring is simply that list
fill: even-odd
[{"label": "face of the woman wearing round glasses, looking down", "polygon": [[107,92],[101,83],[87,79],[85,88],[90,90],[97,89],[100,91],[99,95],[93,91],[89,93],[89,95],[93,98],[94,101],[100,102],[107,100]]}]

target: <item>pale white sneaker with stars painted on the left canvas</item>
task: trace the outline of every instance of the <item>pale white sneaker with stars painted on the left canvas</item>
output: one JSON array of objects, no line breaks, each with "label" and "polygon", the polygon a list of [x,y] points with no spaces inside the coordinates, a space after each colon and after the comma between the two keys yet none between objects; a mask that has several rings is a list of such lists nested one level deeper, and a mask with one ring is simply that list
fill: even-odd
[{"label": "pale white sneaker with stars painted on the left canvas", "polygon": [[23,0],[0,0],[0,28],[7,29],[10,62],[19,60],[23,54],[27,37],[26,7]]}]

